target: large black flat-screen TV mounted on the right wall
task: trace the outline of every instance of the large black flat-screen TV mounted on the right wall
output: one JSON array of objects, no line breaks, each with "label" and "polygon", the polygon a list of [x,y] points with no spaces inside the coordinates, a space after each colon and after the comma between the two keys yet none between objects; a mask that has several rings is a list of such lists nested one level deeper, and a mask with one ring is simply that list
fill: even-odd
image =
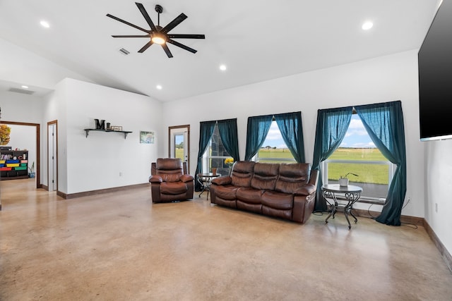
[{"label": "large black flat-screen TV mounted on the right wall", "polygon": [[452,0],[444,0],[418,57],[420,140],[452,138]]}]

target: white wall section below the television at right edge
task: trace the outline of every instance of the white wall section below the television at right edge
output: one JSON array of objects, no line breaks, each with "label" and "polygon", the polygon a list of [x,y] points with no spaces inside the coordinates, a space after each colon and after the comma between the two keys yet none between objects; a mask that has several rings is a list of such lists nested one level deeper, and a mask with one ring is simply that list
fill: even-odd
[{"label": "white wall section below the television at right edge", "polygon": [[[452,254],[452,140],[424,142],[425,219]],[[435,210],[435,204],[437,211]]]}]

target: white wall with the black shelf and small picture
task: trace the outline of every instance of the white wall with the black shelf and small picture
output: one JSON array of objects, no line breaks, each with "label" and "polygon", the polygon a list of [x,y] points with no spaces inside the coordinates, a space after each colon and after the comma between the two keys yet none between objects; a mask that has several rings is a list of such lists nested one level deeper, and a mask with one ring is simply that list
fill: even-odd
[{"label": "white wall with the black shelf and small picture", "polygon": [[[61,160],[67,164],[66,179],[59,175],[58,189],[71,194],[148,183],[150,164],[163,149],[161,103],[140,94],[68,78],[58,85],[58,90],[63,90],[57,109],[59,164]],[[91,131],[86,137],[83,129],[95,128],[95,118],[133,133],[124,139],[122,133]],[[141,130],[155,132],[155,144],[141,144]],[[64,171],[59,166],[59,173]],[[64,180],[66,183],[62,183]]]}]

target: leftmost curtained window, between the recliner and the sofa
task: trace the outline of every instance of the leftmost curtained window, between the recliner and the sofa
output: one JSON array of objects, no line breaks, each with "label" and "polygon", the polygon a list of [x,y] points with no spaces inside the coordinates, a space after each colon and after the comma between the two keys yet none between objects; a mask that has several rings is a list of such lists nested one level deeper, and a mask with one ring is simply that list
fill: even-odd
[{"label": "leftmost curtained window, between the recliner and the sofa", "polygon": [[220,132],[218,131],[218,124],[213,129],[212,137],[210,138],[206,152],[203,154],[203,172],[208,173],[212,168],[217,168],[217,173],[227,175],[229,166],[225,164],[226,158],[231,158],[230,154],[225,149]]}]

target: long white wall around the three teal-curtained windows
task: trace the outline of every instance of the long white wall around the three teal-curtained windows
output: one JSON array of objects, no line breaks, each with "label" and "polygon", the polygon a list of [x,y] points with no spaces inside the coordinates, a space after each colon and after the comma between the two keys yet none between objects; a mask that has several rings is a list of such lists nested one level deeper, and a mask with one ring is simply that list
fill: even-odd
[{"label": "long white wall around the three teal-curtained windows", "polygon": [[[402,214],[422,217],[424,188],[418,184],[418,175],[424,174],[424,150],[418,135],[417,50],[165,103],[163,120],[165,128],[190,125],[191,173],[194,173],[200,121],[237,118],[243,159],[249,116],[302,111],[305,153],[307,161],[312,162],[318,109],[395,100],[402,101],[408,157],[410,202]],[[166,136],[164,145],[168,145]]]}]

